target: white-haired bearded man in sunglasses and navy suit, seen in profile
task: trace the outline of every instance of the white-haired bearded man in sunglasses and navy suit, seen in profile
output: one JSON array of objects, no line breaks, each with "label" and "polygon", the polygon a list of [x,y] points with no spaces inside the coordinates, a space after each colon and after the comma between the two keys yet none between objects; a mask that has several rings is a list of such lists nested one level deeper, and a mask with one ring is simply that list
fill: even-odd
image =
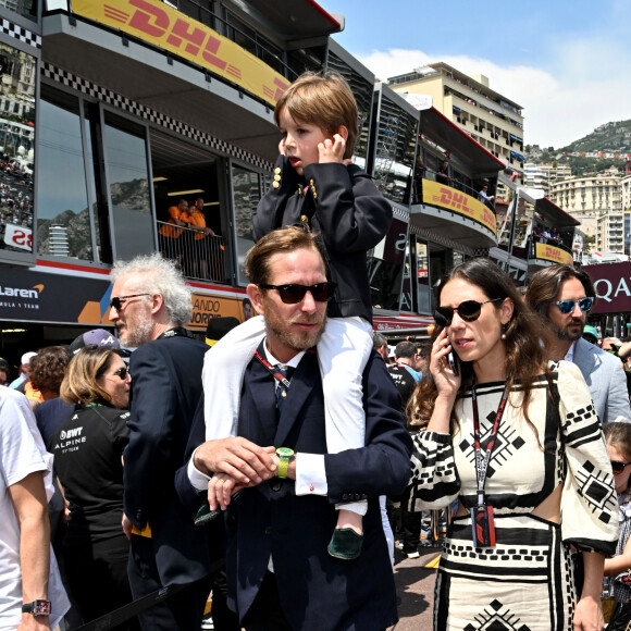
[{"label": "white-haired bearded man in sunglasses and navy suit, seen in profile", "polygon": [[199,629],[210,591],[203,529],[196,528],[173,486],[197,403],[206,344],[188,336],[190,288],[160,255],[116,261],[110,320],[121,345],[136,348],[125,448],[123,529],[131,540],[135,599],[172,584],[175,595],[139,614],[145,631]]}]

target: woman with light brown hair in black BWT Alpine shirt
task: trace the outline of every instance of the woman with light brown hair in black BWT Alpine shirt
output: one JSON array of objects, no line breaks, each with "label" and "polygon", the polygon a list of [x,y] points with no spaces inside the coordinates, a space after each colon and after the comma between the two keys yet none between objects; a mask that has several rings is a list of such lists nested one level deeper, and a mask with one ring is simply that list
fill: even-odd
[{"label": "woman with light brown hair in black BWT Alpine shirt", "polygon": [[[70,510],[63,543],[65,572],[84,622],[132,601],[129,542],[123,518],[123,450],[129,440],[131,375],[120,351],[86,346],[71,360],[61,384],[74,415],[48,447]],[[136,619],[115,627],[139,629]]]}]

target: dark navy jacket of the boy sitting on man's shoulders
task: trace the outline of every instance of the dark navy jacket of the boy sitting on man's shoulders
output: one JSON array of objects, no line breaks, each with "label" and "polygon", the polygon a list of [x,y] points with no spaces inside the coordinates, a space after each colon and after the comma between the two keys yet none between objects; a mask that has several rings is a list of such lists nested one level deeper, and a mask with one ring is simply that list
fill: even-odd
[{"label": "dark navy jacket of the boy sitting on man's shoulders", "polygon": [[367,252],[386,235],[392,206],[359,166],[336,162],[310,164],[300,177],[284,156],[274,169],[277,187],[261,199],[253,219],[255,239],[307,218],[337,283],[330,318],[360,316],[372,322]]}]

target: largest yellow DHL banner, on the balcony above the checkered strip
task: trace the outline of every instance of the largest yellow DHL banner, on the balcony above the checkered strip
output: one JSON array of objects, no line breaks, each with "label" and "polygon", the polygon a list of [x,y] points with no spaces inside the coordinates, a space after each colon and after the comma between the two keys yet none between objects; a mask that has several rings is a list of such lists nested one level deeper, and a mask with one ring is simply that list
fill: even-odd
[{"label": "largest yellow DHL banner, on the balcony above the checkered strip", "polygon": [[159,0],[73,0],[72,10],[191,61],[272,106],[289,85],[234,41]]}]

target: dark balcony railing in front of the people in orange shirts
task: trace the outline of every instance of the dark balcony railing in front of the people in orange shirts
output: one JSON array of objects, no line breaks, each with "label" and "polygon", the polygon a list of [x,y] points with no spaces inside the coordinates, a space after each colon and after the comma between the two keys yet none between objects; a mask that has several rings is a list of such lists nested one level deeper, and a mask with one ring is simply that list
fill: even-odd
[{"label": "dark balcony railing in front of the people in orange shirts", "polygon": [[175,261],[186,277],[225,282],[226,250],[223,237],[163,221],[157,223],[160,252]]}]

